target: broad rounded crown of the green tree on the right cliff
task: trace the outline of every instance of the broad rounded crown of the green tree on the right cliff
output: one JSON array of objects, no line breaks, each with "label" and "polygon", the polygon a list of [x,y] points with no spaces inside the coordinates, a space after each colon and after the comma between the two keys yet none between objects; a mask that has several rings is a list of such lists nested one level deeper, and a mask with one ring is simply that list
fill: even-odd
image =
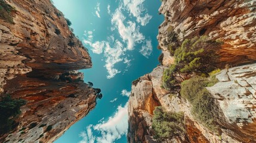
[{"label": "broad rounded crown of the green tree on the right cliff", "polygon": [[186,39],[180,48],[175,50],[175,63],[181,73],[208,74],[217,68],[220,42],[209,41],[207,36]]}]

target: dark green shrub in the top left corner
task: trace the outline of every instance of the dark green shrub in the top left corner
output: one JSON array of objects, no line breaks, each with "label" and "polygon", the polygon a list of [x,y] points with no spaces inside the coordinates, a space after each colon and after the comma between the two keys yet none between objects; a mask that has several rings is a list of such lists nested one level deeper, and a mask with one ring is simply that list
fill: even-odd
[{"label": "dark green shrub in the top left corner", "polygon": [[13,11],[13,7],[6,4],[5,1],[0,0],[0,18],[2,20],[7,21],[8,23],[14,24],[13,15],[11,15],[11,11]]}]

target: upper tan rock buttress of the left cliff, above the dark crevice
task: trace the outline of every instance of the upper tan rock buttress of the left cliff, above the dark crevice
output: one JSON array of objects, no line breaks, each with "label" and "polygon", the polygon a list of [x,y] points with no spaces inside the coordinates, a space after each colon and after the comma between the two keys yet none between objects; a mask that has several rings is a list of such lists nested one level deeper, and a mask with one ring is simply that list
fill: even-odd
[{"label": "upper tan rock buttress of the left cliff, above the dark crevice", "polygon": [[3,77],[11,79],[31,68],[57,73],[92,66],[88,52],[50,1],[6,2],[14,8],[14,24],[0,19],[1,85]]}]

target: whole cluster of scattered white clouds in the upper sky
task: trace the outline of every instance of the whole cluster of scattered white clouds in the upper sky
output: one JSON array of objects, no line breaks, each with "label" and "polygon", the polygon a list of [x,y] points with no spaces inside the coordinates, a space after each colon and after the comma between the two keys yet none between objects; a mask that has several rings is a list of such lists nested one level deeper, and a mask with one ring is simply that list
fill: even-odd
[{"label": "whole cluster of scattered white clouds in the upper sky", "polygon": [[[106,41],[94,41],[94,31],[85,31],[86,38],[84,43],[91,46],[92,52],[95,54],[104,54],[104,67],[107,70],[107,79],[111,79],[116,74],[122,71],[127,71],[127,67],[131,66],[131,57],[127,55],[128,51],[135,49],[135,46],[141,46],[140,53],[144,57],[149,57],[152,53],[151,40],[145,39],[145,36],[140,32],[140,25],[145,26],[152,18],[147,14],[146,8],[143,6],[144,0],[124,0],[119,2],[118,8],[115,11],[110,11],[110,5],[107,5],[107,13],[111,16],[110,30],[114,33],[115,30],[118,35],[107,36]],[[100,17],[100,3],[97,2],[95,13]],[[125,17],[125,13],[129,13],[136,17],[136,21],[132,21],[131,17]],[[128,20],[128,18],[130,20]],[[121,39],[120,39],[121,38]],[[117,39],[120,39],[118,41]],[[125,69],[118,69],[115,67],[118,63],[127,64]]]}]

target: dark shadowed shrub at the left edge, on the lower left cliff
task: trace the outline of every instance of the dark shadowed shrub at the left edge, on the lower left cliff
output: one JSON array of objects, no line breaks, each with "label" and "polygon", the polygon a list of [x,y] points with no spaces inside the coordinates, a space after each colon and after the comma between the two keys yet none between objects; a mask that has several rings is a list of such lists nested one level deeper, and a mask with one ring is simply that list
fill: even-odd
[{"label": "dark shadowed shrub at the left edge, on the lower left cliff", "polygon": [[0,135],[16,128],[15,119],[21,112],[20,107],[25,104],[26,101],[12,99],[10,95],[2,97],[2,101],[0,101]]}]

